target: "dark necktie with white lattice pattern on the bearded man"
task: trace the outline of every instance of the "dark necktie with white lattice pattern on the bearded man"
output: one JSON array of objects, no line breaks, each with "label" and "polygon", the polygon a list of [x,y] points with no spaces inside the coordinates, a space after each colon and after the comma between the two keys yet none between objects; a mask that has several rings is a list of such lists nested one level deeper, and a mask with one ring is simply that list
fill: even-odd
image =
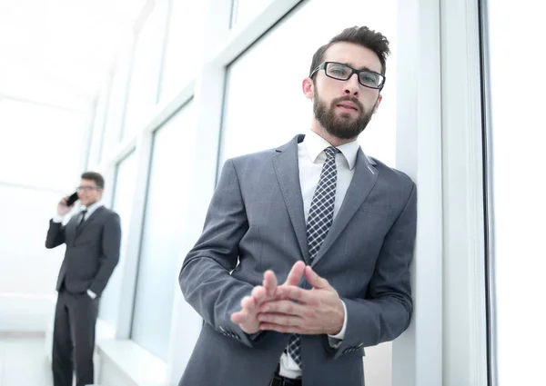
[{"label": "dark necktie with white lattice pattern on the bearded man", "polygon": [[[333,146],[324,149],[326,161],[322,165],[319,184],[313,195],[308,215],[308,249],[311,261],[320,250],[329,228],[334,221],[334,203],[336,202],[336,184],[338,169],[336,167],[336,153],[339,150]],[[301,368],[301,337],[292,334],[288,341],[288,355]]]}]

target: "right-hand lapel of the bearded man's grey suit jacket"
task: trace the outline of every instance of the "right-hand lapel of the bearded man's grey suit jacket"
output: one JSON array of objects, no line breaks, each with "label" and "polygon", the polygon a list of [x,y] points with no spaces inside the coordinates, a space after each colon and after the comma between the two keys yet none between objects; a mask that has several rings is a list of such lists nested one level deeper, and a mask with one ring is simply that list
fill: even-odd
[{"label": "right-hand lapel of the bearded man's grey suit jacket", "polygon": [[364,152],[362,152],[362,149],[359,149],[357,163],[355,164],[355,173],[349,184],[349,189],[345,194],[345,199],[341,204],[341,208],[339,208],[338,215],[329,229],[329,233],[320,246],[319,252],[313,259],[312,265],[319,262],[322,256],[328,252],[329,247],[336,241],[350,219],[357,213],[360,205],[364,203],[364,200],[366,200],[369,192],[371,192],[371,189],[377,182],[378,175],[378,170],[369,162]]}]

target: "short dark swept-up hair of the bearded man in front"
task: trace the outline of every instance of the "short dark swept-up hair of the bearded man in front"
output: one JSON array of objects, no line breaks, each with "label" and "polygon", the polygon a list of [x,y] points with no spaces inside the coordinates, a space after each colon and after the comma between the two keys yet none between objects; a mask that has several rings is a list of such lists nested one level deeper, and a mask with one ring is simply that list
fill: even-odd
[{"label": "short dark swept-up hair of the bearded man in front", "polygon": [[381,74],[385,74],[387,69],[387,56],[390,54],[389,40],[387,40],[384,35],[369,29],[367,26],[359,27],[358,25],[345,28],[339,35],[332,37],[328,44],[321,46],[317,52],[313,54],[309,74],[322,63],[324,53],[326,53],[329,47],[339,42],[354,43],[355,45],[361,45],[373,51],[379,57]]}]

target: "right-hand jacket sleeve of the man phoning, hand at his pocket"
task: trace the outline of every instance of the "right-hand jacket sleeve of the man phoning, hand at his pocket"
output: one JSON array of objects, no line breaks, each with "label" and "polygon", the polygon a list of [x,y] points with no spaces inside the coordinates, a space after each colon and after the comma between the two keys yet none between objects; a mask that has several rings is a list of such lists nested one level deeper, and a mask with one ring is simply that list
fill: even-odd
[{"label": "right-hand jacket sleeve of the man phoning, hand at his pocket", "polygon": [[95,292],[97,296],[104,291],[106,283],[117,262],[119,262],[119,248],[121,243],[121,225],[119,215],[111,213],[102,231],[102,253],[99,257],[99,268],[96,272],[95,279],[91,283],[89,290]]}]

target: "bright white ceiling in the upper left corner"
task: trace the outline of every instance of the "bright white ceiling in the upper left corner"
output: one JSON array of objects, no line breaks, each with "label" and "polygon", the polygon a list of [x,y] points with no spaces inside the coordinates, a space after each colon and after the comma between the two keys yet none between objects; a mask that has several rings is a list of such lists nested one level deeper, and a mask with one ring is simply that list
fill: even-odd
[{"label": "bright white ceiling in the upper left corner", "polygon": [[154,3],[1,0],[0,98],[88,109]]}]

